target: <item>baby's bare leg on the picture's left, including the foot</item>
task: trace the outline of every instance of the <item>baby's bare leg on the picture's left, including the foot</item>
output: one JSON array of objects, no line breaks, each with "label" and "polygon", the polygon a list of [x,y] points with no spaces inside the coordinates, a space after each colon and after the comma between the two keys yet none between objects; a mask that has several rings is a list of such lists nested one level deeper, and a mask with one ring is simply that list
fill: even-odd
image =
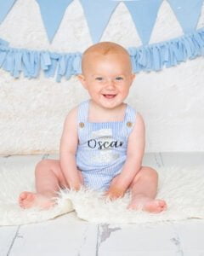
[{"label": "baby's bare leg on the picture's left, including the foot", "polygon": [[53,207],[54,197],[59,189],[68,187],[59,160],[41,160],[36,166],[35,176],[37,193],[22,192],[19,198],[20,207]]}]

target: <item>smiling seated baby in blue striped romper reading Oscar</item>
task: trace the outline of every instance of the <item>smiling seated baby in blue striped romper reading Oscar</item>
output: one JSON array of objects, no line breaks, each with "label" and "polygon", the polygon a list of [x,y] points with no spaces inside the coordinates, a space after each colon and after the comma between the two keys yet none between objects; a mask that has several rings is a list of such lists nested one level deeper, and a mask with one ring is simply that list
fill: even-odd
[{"label": "smiling seated baby in blue striped romper reading Oscar", "polygon": [[102,42],[83,53],[78,78],[90,99],[67,114],[59,160],[37,164],[37,192],[22,192],[20,207],[48,209],[59,189],[85,186],[103,191],[111,200],[130,191],[129,209],[167,208],[165,201],[156,199],[156,170],[142,166],[142,116],[124,103],[134,77],[127,50],[119,44]]}]

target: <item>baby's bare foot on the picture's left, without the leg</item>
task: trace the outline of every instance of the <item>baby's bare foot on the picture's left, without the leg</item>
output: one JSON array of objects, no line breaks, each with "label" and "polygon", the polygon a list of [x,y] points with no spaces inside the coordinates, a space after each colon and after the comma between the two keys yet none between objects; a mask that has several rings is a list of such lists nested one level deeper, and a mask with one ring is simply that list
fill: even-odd
[{"label": "baby's bare foot on the picture's left, without the leg", "polygon": [[54,200],[41,194],[22,192],[19,197],[19,204],[22,208],[39,207],[41,209],[48,209],[54,207]]}]

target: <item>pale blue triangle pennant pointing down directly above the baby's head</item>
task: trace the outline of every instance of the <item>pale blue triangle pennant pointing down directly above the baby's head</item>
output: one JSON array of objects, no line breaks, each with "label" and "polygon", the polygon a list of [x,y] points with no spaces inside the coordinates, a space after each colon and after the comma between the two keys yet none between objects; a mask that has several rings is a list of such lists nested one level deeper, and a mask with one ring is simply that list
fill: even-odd
[{"label": "pale blue triangle pennant pointing down directly above the baby's head", "polygon": [[80,0],[86,16],[92,40],[98,43],[112,13],[119,4],[110,0]]}]

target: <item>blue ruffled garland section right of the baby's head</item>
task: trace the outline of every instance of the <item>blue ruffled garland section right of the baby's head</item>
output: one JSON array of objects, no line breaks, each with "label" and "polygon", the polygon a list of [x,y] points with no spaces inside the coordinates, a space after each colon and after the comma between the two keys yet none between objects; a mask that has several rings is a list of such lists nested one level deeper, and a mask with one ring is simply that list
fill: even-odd
[{"label": "blue ruffled garland section right of the baby's head", "polygon": [[128,52],[132,60],[133,73],[173,67],[182,61],[204,55],[204,28],[159,44],[131,47],[128,48]]}]

